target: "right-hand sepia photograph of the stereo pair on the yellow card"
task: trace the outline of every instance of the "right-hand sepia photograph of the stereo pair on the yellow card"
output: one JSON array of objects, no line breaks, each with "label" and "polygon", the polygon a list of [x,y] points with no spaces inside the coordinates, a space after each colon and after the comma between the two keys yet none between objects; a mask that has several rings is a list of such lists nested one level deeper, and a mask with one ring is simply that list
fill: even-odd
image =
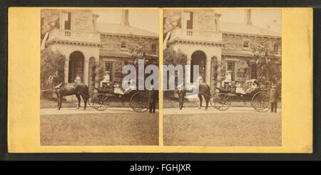
[{"label": "right-hand sepia photograph of the stereo pair on the yellow card", "polygon": [[282,146],[281,14],[163,10],[164,146]]}]

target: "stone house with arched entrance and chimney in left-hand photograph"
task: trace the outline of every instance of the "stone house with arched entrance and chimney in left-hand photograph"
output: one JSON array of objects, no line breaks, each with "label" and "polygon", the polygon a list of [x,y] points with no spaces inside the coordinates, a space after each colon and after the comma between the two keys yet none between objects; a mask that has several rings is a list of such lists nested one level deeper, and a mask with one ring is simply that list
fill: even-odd
[{"label": "stone house with arched entrance and chimney in left-hand photograph", "polygon": [[119,24],[110,24],[98,23],[99,16],[87,9],[41,11],[42,45],[65,56],[65,83],[79,75],[93,91],[104,71],[121,83],[122,68],[133,64],[130,51],[138,40],[158,62],[158,34],[131,26],[128,16],[123,10]]}]

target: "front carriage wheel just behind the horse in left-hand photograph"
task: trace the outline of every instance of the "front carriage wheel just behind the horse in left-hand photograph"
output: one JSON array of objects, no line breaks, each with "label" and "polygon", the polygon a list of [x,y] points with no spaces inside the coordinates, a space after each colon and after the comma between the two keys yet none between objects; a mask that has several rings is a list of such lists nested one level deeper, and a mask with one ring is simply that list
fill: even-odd
[{"label": "front carriage wheel just behind the horse in left-hand photograph", "polygon": [[92,94],[88,99],[89,106],[97,111],[104,111],[109,106],[108,97],[104,94]]}]

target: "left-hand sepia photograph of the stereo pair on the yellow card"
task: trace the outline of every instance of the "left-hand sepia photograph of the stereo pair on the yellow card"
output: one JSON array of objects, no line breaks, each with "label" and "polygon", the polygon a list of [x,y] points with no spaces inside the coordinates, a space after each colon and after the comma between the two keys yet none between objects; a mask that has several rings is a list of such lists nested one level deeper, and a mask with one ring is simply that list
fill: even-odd
[{"label": "left-hand sepia photograph of the stereo pair on the yellow card", "polygon": [[158,14],[41,9],[41,146],[158,145]]}]

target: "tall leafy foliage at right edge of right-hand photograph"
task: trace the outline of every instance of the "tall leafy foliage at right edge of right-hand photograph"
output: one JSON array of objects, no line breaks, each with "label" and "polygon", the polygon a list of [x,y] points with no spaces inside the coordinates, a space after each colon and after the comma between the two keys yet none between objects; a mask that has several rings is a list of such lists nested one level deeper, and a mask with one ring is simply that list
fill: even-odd
[{"label": "tall leafy foliage at right edge of right-hand photograph", "polygon": [[256,61],[259,81],[280,84],[281,60],[270,53],[267,41],[260,41],[260,44],[253,48],[253,59]]}]

